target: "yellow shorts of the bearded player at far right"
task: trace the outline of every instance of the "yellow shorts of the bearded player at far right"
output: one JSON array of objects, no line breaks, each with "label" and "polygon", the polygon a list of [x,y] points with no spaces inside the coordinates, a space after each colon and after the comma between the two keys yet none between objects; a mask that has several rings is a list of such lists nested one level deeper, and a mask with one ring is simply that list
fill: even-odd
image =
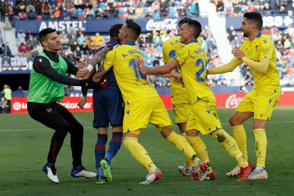
[{"label": "yellow shorts of the bearded player at far right", "polygon": [[252,89],[242,99],[236,108],[236,112],[253,112],[254,119],[270,121],[274,106],[281,95],[279,86],[268,87],[268,89]]}]

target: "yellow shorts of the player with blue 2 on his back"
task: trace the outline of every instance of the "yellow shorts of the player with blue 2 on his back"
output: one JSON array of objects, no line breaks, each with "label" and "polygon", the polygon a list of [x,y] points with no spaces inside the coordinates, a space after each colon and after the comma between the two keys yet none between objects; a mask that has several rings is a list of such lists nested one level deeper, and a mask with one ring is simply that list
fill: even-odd
[{"label": "yellow shorts of the player with blue 2 on his back", "polygon": [[200,98],[191,105],[186,130],[196,129],[203,135],[221,128],[214,95]]}]

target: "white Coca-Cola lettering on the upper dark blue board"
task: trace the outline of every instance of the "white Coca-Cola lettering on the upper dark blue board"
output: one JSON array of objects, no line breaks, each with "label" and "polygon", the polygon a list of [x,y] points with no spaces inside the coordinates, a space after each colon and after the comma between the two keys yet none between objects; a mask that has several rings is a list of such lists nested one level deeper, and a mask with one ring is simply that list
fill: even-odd
[{"label": "white Coca-Cola lettering on the upper dark blue board", "polygon": [[155,28],[156,30],[161,30],[163,28],[166,28],[168,30],[176,29],[176,23],[177,19],[165,19],[163,21],[155,21],[153,19],[150,19],[146,24],[147,30],[153,30]]}]

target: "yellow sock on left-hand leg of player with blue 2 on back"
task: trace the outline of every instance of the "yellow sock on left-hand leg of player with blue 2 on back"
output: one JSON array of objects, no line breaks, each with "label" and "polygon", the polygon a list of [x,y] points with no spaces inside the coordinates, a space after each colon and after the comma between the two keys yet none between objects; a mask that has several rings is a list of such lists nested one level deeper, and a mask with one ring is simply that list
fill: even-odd
[{"label": "yellow sock on left-hand leg of player with blue 2 on back", "polygon": [[[204,161],[205,163],[209,163],[209,158],[208,158],[208,153],[207,153],[207,148],[201,138],[199,136],[196,137],[191,137],[191,136],[186,136],[189,144],[193,147],[195,150],[197,156],[199,157],[200,160]],[[208,173],[212,172],[211,167],[208,167]]]}]

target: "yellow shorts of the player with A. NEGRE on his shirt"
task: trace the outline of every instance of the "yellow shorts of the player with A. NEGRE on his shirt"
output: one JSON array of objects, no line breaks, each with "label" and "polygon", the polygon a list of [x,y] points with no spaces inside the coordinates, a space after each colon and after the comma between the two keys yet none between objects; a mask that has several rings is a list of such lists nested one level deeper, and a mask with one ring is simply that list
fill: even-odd
[{"label": "yellow shorts of the player with A. NEGRE on his shirt", "polygon": [[159,131],[172,127],[172,121],[160,97],[145,98],[124,106],[123,133],[145,129],[148,123]]}]

